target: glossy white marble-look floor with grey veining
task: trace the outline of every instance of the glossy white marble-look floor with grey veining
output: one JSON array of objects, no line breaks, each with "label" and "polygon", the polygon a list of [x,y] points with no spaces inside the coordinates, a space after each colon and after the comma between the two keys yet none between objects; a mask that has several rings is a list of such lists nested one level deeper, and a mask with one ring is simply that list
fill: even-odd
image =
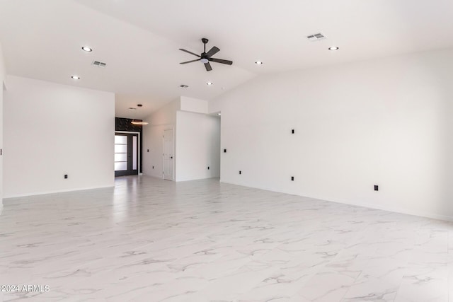
[{"label": "glossy white marble-look floor with grey veining", "polygon": [[4,301],[453,301],[446,221],[219,183],[6,199]]}]

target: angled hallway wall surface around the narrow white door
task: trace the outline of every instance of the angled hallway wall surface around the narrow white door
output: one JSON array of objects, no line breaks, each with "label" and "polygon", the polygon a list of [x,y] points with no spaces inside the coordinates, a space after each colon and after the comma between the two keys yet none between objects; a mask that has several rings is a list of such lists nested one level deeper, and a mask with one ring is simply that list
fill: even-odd
[{"label": "angled hallway wall surface around the narrow white door", "polygon": [[[179,109],[180,99],[178,98],[144,119],[144,121],[149,122],[149,124],[143,126],[144,175],[162,178],[162,151],[164,149],[162,135],[164,129],[173,129],[173,140],[176,137],[176,111]],[[176,142],[173,142],[173,144],[176,144]],[[173,146],[173,148],[176,151],[176,146]],[[177,156],[176,153],[173,154],[173,178],[176,175]]]}]

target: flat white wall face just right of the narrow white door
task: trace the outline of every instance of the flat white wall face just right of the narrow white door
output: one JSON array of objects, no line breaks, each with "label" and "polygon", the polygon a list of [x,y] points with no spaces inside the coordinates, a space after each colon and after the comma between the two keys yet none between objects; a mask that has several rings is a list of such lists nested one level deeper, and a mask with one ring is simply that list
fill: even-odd
[{"label": "flat white wall face just right of the narrow white door", "polygon": [[[220,118],[178,111],[176,181],[220,176]],[[208,170],[207,167],[210,167]]]}]

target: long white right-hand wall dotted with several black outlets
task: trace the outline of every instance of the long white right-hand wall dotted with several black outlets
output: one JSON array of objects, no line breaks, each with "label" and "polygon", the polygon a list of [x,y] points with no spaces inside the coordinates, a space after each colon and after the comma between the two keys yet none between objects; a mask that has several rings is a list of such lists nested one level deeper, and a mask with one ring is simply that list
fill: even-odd
[{"label": "long white right-hand wall dotted with several black outlets", "polygon": [[441,50],[260,76],[210,103],[221,179],[453,219],[452,70]]}]

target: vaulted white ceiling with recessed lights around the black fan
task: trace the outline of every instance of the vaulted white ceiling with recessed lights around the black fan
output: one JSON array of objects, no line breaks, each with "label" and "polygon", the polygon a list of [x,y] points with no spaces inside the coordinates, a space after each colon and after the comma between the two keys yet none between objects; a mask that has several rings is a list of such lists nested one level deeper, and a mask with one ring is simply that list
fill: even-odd
[{"label": "vaulted white ceiling with recessed lights around the black fan", "polygon": [[[314,33],[327,38],[309,42]],[[180,65],[195,57],[178,48],[200,53],[201,37],[234,64]],[[2,0],[0,42],[8,74],[112,91],[117,116],[144,117],[180,95],[210,100],[259,74],[453,47],[453,1]],[[137,103],[144,108],[127,110]]]}]

